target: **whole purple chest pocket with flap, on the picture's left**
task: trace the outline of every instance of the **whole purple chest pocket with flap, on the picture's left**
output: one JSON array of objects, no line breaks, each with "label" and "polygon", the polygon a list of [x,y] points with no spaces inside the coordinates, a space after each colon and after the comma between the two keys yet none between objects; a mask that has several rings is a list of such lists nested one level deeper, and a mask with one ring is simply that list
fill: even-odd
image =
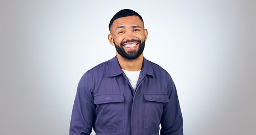
[{"label": "whole purple chest pocket with flap, on the picture's left", "polygon": [[96,127],[124,129],[124,94],[104,93],[94,97]]}]

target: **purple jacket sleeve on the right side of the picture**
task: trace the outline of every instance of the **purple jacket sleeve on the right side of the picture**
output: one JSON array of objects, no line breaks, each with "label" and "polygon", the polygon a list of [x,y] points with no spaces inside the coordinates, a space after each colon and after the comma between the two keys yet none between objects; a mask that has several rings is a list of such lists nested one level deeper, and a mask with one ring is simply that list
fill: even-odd
[{"label": "purple jacket sleeve on the right side of the picture", "polygon": [[169,102],[164,105],[160,134],[183,135],[183,119],[176,87],[169,74],[167,80]]}]

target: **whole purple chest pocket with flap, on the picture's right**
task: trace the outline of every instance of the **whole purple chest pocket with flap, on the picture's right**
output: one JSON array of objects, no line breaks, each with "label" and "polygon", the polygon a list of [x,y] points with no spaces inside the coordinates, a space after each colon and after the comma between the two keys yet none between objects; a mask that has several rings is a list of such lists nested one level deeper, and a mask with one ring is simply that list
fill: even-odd
[{"label": "whole purple chest pocket with flap, on the picture's right", "polygon": [[163,106],[169,102],[165,93],[143,93],[145,98],[144,128],[159,128]]}]

